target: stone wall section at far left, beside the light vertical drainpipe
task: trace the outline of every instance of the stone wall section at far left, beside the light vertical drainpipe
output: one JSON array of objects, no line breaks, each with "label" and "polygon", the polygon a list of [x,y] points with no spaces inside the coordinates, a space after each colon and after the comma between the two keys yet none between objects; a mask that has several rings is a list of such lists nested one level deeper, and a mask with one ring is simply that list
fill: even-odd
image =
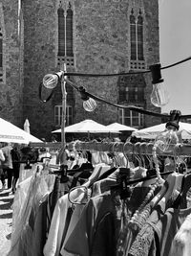
[{"label": "stone wall section at far left, beside the light vertical drainpipe", "polygon": [[[18,6],[15,0],[0,1],[3,35],[3,81],[0,81],[0,117],[23,126],[22,36],[18,35]],[[20,38],[19,38],[20,37]]]}]

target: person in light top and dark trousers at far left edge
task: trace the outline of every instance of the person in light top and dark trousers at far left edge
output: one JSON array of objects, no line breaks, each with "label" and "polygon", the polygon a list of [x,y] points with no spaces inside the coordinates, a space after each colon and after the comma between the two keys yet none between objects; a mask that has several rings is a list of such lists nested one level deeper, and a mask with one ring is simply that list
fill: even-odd
[{"label": "person in light top and dark trousers at far left edge", "polygon": [[5,146],[1,148],[3,154],[5,156],[5,161],[2,162],[2,169],[3,169],[3,184],[5,189],[5,177],[8,177],[8,189],[11,189],[11,182],[12,182],[12,159],[11,159],[11,143],[5,143]]}]

